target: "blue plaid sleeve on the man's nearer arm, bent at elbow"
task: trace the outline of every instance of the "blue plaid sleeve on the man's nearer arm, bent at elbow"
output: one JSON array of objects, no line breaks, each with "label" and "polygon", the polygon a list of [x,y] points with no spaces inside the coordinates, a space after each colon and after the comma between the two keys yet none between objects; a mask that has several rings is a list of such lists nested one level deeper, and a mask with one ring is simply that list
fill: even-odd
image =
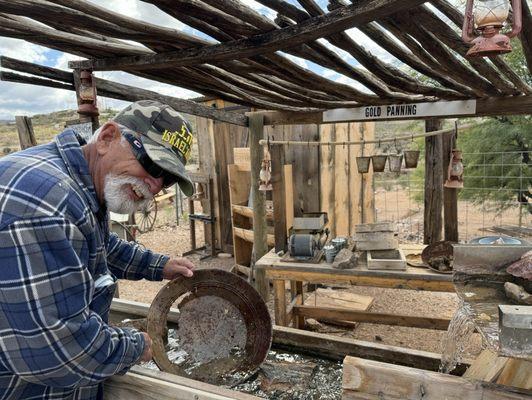
[{"label": "blue plaid sleeve on the man's nearer arm, bent at elbow", "polygon": [[59,217],[18,220],[0,231],[0,361],[28,382],[94,385],[133,365],[143,336],[89,310],[93,280],[85,238]]}]

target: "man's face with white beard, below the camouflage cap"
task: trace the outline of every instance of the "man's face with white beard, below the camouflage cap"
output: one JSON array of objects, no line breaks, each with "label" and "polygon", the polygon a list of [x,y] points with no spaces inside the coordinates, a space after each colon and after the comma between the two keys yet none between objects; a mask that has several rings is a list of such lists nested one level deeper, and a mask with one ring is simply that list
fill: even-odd
[{"label": "man's face with white beard, below the camouflage cap", "polygon": [[131,214],[146,206],[162,189],[162,178],[146,172],[121,135],[114,135],[106,146],[102,159],[103,198],[109,211]]}]

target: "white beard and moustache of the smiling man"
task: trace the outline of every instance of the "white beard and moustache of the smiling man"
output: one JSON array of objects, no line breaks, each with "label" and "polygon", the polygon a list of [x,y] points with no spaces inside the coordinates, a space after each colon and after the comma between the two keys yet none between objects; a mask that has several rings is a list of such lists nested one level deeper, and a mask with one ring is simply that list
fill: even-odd
[{"label": "white beard and moustache of the smiling man", "polygon": [[[137,193],[142,194],[143,199],[134,201],[131,199],[125,186],[131,185]],[[148,205],[153,194],[149,186],[141,179],[133,176],[119,176],[107,174],[103,189],[107,209],[117,214],[132,214]]]}]

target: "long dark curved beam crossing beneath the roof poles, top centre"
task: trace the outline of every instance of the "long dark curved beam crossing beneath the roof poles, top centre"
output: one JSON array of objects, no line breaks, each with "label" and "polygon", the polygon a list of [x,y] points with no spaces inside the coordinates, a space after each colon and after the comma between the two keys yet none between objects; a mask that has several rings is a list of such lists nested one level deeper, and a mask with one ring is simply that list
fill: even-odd
[{"label": "long dark curved beam crossing beneath the roof poles, top centre", "polygon": [[138,55],[86,61],[71,61],[71,68],[92,70],[153,69],[163,66],[184,66],[213,63],[275,52],[306,43],[331,33],[383,18],[397,11],[422,4],[422,0],[374,0],[352,4],[289,26],[251,38],[228,43],[153,55]]}]

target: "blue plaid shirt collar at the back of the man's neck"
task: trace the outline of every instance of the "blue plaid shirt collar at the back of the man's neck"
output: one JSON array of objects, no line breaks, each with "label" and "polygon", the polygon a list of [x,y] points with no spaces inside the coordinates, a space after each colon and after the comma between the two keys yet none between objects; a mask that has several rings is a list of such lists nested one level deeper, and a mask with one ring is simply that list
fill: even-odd
[{"label": "blue plaid shirt collar at the back of the man's neck", "polygon": [[98,202],[94,182],[89,172],[89,164],[83,155],[80,142],[72,129],[66,129],[55,137],[59,154],[63,159],[70,177],[83,191],[92,212],[96,215],[105,214],[105,207]]}]

